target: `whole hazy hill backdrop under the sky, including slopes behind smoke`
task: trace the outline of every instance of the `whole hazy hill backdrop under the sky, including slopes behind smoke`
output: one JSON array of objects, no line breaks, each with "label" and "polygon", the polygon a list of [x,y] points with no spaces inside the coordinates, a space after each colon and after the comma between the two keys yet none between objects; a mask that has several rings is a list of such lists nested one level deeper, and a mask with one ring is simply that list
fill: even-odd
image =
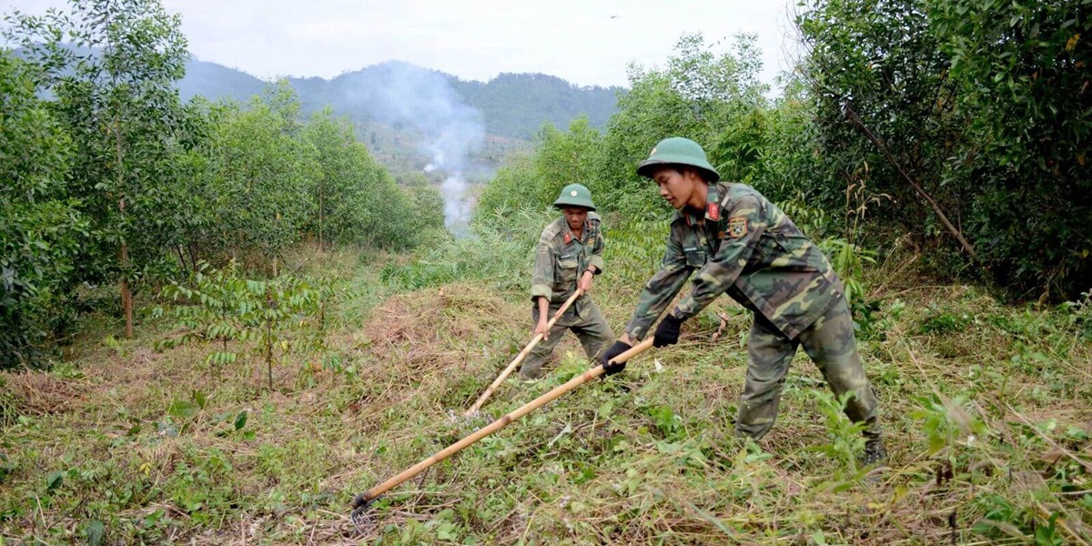
[{"label": "whole hazy hill backdrop under the sky, including slopes behind smoke", "polygon": [[[584,115],[603,128],[622,91],[581,87],[546,74],[503,73],[488,82],[466,81],[403,61],[330,80],[288,81],[302,115],[330,106],[336,115],[347,116],[357,136],[400,180],[434,168],[441,170],[430,178],[453,169],[471,181],[487,180],[509,153],[529,146],[543,123],[565,129]],[[178,90],[183,100],[201,95],[247,102],[266,84],[241,70],[193,59],[187,62]]]}]

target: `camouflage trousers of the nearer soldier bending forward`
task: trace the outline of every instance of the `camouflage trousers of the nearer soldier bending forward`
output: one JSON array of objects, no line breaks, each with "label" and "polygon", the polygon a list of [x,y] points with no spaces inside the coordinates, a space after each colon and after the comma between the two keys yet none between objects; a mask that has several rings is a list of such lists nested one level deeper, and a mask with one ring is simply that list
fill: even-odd
[{"label": "camouflage trousers of the nearer soldier bending forward", "polygon": [[819,367],[834,395],[841,397],[853,393],[845,415],[854,423],[865,424],[867,439],[879,438],[876,393],[860,366],[853,319],[841,297],[794,340],[782,334],[761,314],[755,314],[747,342],[747,379],[736,418],[736,434],[758,440],[773,427],[788,365],[800,345]]}]

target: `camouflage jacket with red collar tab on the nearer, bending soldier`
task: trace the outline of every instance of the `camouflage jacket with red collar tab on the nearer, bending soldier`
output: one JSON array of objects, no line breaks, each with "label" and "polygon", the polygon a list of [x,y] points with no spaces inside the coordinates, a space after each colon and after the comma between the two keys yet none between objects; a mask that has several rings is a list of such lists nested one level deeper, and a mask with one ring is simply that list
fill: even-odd
[{"label": "camouflage jacket with red collar tab on the nearer, bending soldier", "polygon": [[703,217],[675,213],[663,263],[641,292],[626,333],[643,337],[695,271],[693,290],[675,308],[678,318],[698,314],[727,293],[790,339],[843,292],[822,251],[781,209],[741,183],[710,185]]}]

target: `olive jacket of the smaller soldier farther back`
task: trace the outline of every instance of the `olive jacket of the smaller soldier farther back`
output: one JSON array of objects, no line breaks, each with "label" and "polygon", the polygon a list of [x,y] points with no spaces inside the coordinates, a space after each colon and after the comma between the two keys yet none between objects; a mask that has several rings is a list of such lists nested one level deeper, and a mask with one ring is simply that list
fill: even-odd
[{"label": "olive jacket of the smaller soldier farther back", "polygon": [[603,271],[603,232],[600,215],[587,213],[584,224],[584,239],[579,240],[569,229],[565,216],[550,222],[543,229],[535,253],[535,265],[531,273],[531,300],[538,296],[549,299],[550,305],[563,304],[577,290],[577,281],[591,265],[595,274]]}]

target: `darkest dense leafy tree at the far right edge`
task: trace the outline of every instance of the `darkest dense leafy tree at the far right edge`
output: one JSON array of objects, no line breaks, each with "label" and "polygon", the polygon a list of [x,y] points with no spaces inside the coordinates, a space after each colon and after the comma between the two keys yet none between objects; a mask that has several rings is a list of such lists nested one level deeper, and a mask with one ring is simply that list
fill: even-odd
[{"label": "darkest dense leafy tree at the far right edge", "polygon": [[1092,286],[1092,0],[931,2],[968,145],[949,179],[980,185],[968,229],[1005,285]]}]

